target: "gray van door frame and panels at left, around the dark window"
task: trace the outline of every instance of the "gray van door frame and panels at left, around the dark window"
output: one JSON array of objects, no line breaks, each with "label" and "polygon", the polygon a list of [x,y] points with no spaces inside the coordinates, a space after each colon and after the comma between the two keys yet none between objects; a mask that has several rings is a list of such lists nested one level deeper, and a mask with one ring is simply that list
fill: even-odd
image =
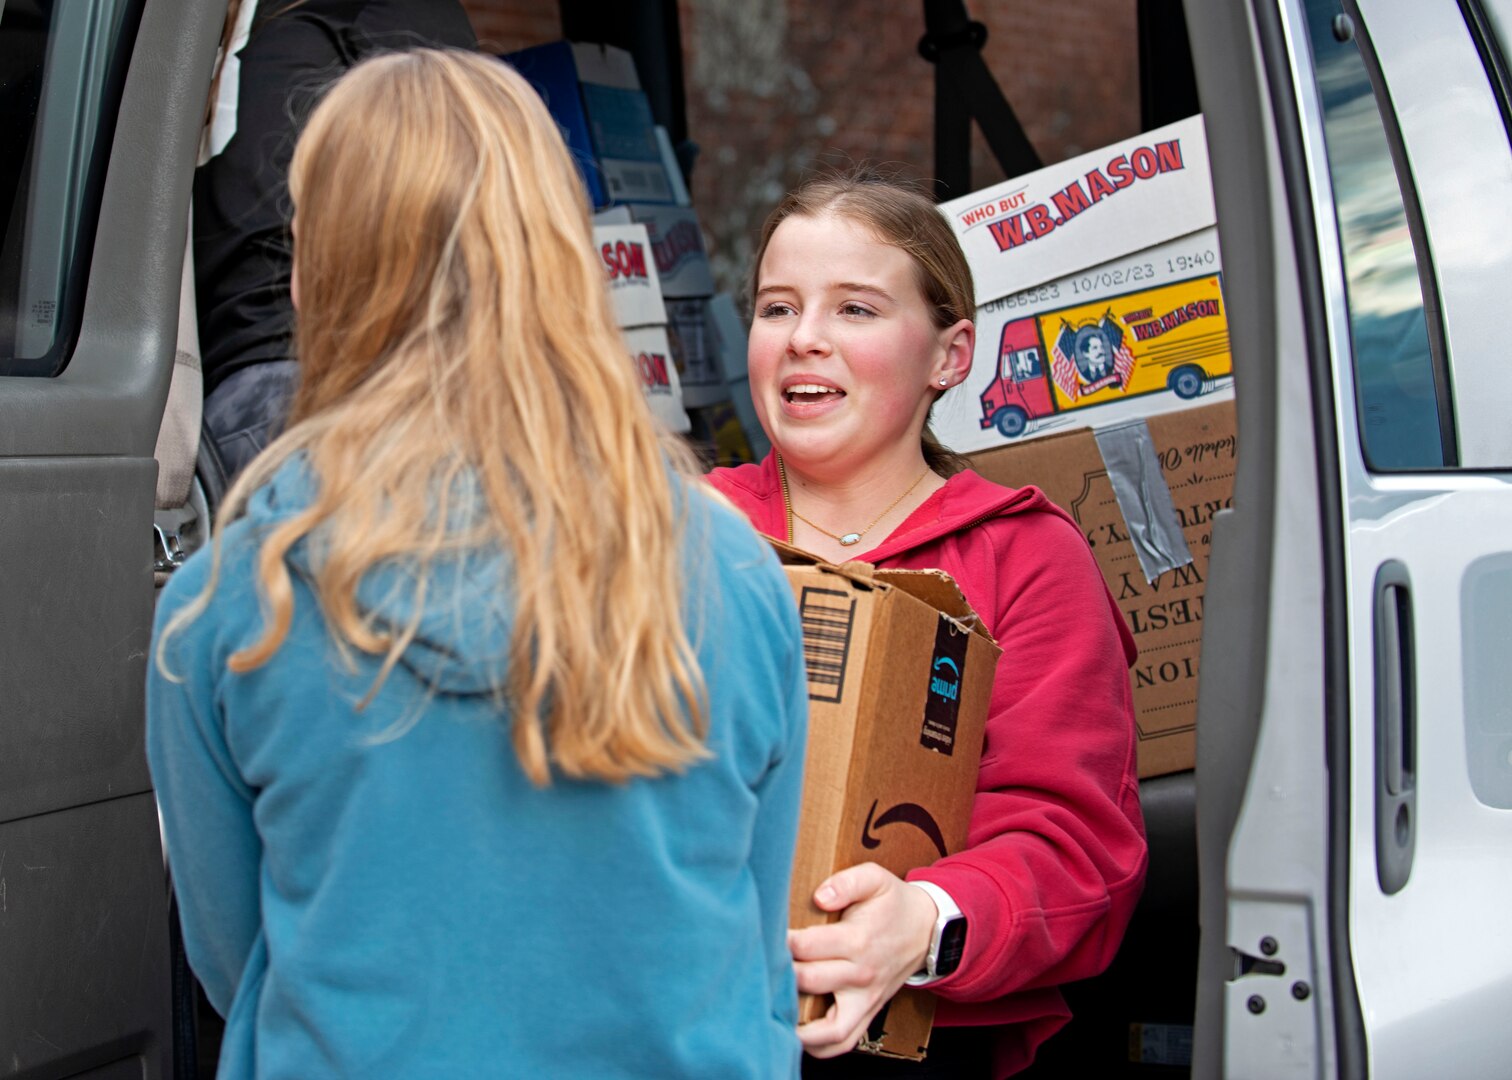
[{"label": "gray van door frame and panels at left, around the dark window", "polygon": [[73,354],[51,378],[0,377],[0,1051],[27,1075],[171,1074],[144,755],[153,449],[224,11],[141,6]]}]

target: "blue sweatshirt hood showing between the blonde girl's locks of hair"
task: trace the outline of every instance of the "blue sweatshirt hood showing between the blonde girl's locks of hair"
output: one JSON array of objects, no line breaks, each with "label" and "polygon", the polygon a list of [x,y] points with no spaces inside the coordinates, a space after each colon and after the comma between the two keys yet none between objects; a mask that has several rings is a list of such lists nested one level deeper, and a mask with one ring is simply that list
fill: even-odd
[{"label": "blue sweatshirt hood showing between the blonde girl's locks of hair", "polygon": [[[290,460],[248,501],[246,519],[266,532],[310,505],[314,478]],[[313,582],[324,561],[325,529],[302,537],[286,557]],[[380,632],[404,634],[419,613],[414,640],[399,663],[443,694],[497,694],[508,676],[514,628],[514,588],[508,558],[499,551],[443,552],[420,560],[389,560],[370,569],[357,588],[357,608]]]}]

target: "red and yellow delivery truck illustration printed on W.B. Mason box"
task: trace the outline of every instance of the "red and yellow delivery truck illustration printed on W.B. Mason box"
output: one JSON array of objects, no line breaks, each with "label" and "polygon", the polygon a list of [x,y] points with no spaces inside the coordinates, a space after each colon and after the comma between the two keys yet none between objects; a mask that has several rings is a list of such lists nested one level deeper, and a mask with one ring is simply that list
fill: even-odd
[{"label": "red and yellow delivery truck illustration printed on W.B. Mason box", "polygon": [[1198,398],[1232,371],[1217,275],[1101,296],[1002,327],[981,427],[1018,439],[1054,413],[1146,393]]}]

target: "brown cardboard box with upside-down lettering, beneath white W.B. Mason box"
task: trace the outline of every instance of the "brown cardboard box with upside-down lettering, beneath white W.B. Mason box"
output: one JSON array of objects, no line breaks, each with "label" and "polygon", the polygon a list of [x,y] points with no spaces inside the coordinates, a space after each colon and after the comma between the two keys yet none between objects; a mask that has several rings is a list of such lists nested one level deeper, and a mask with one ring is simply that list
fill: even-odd
[{"label": "brown cardboard box with upside-down lettering, beneath white W.B. Mason box", "polygon": [[1143,421],[1158,469],[1146,475],[1142,499],[1160,504],[1163,483],[1190,563],[1149,581],[1114,492],[1098,437],[1078,428],[977,454],[972,466],[1007,487],[1034,484],[1081,526],[1134,640],[1139,659],[1129,678],[1139,725],[1139,774],[1191,768],[1196,761],[1198,661],[1202,650],[1202,596],[1208,573],[1213,514],[1232,504],[1237,440],[1231,401]]}]

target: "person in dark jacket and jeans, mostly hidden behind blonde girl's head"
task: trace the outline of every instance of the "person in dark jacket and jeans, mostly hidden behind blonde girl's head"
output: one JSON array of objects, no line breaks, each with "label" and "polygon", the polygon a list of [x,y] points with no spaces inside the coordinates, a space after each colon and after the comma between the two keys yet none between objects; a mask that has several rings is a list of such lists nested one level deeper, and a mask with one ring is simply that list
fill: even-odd
[{"label": "person in dark jacket and jeans, mostly hidden behind blonde girl's head", "polygon": [[204,425],[228,476],[283,427],[298,377],[287,175],[305,118],[366,56],[476,44],[457,0],[233,0],[194,182]]}]

